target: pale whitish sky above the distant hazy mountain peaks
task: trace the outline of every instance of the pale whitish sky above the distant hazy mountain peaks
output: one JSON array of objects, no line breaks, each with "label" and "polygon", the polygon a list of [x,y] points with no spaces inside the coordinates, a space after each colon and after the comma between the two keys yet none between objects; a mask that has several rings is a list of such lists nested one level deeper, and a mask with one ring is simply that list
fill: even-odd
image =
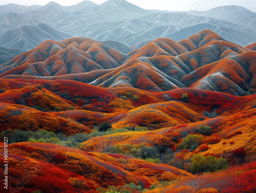
[{"label": "pale whitish sky above the distant hazy mountain peaks", "polygon": [[[0,5],[14,3],[18,5],[46,5],[52,0],[0,0]],[[54,0],[54,2],[62,5],[75,5],[83,0]],[[91,0],[96,4],[101,4],[106,0]],[[214,7],[224,5],[239,5],[251,11],[256,11],[255,0],[127,0],[134,5],[143,9],[159,9],[169,11],[189,11],[189,10],[208,10]]]}]

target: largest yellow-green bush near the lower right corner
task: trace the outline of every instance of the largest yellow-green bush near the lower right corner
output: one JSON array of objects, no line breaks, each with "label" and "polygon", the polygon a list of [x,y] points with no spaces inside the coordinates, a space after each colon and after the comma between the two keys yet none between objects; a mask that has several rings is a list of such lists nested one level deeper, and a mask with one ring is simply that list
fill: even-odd
[{"label": "largest yellow-green bush near the lower right corner", "polygon": [[224,158],[195,154],[193,158],[191,158],[190,172],[193,174],[214,172],[220,169],[226,169],[227,167],[228,163]]}]

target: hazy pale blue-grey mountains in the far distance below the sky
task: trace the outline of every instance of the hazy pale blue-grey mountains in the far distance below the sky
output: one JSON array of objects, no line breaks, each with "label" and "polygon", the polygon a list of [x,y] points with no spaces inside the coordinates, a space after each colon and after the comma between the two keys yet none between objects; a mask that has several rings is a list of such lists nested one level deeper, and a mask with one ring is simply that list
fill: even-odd
[{"label": "hazy pale blue-grey mountains in the far distance below the sky", "polygon": [[[142,47],[159,37],[182,40],[210,29],[247,46],[256,41],[256,14],[239,6],[208,11],[148,11],[124,0],[101,5],[84,1],[74,6],[51,2],[45,6],[0,6],[0,46],[28,51],[41,42],[82,36]],[[36,41],[35,41],[36,39]]]}]

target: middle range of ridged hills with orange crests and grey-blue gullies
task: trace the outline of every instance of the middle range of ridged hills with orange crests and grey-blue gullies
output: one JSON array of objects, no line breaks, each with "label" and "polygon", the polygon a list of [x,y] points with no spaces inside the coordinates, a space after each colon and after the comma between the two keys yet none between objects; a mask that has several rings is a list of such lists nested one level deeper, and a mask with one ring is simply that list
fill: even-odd
[{"label": "middle range of ridged hills with orange crests and grey-blue gullies", "polygon": [[256,86],[255,44],[204,30],[181,41],[158,38],[139,49],[73,37],[47,40],[0,65],[0,78],[66,79],[150,92],[178,88],[246,95]]}]

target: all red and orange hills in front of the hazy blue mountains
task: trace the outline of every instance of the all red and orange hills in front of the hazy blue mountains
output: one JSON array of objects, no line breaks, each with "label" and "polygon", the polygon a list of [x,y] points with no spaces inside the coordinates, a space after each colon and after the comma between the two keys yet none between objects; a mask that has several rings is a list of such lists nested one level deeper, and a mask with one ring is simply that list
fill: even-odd
[{"label": "all red and orange hills in front of the hazy blue mountains", "polygon": [[254,46],[204,30],[123,54],[77,37],[0,65],[10,188],[255,192]]}]

